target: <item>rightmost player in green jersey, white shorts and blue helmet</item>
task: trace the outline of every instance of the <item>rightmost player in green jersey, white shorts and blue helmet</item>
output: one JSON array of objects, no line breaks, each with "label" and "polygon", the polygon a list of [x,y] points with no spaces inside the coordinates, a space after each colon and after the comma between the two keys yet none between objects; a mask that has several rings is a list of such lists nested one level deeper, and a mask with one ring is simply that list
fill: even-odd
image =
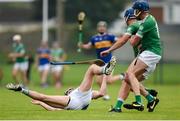
[{"label": "rightmost player in green jersey, white shorts and blue helmet", "polygon": [[[140,86],[137,77],[144,72],[144,76],[152,73],[156,64],[161,59],[161,41],[159,35],[159,29],[155,18],[149,14],[149,4],[146,1],[136,1],[133,4],[135,10],[135,16],[137,19],[142,20],[142,23],[137,31],[136,35],[130,40],[132,46],[136,46],[139,42],[141,43],[141,53],[139,54],[134,65],[137,65],[139,69],[136,73],[129,72],[129,83],[132,85],[132,90],[135,93],[136,101],[129,104],[131,108],[143,106],[140,97]],[[152,112],[155,106],[158,104],[159,99],[154,98],[148,105],[148,111]],[[128,106],[128,107],[129,107]]]}]

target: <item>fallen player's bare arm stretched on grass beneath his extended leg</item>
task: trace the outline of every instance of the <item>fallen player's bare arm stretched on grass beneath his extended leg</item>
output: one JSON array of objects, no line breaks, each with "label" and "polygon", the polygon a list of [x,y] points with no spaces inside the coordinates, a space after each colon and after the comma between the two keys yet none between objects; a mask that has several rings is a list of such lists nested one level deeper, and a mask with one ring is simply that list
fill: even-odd
[{"label": "fallen player's bare arm stretched on grass beneath his extended leg", "polygon": [[63,110],[61,108],[55,108],[55,107],[52,107],[42,101],[39,101],[39,100],[32,100],[32,103],[35,104],[35,105],[40,105],[42,106],[44,109],[48,110],[48,111],[57,111],[57,110]]}]

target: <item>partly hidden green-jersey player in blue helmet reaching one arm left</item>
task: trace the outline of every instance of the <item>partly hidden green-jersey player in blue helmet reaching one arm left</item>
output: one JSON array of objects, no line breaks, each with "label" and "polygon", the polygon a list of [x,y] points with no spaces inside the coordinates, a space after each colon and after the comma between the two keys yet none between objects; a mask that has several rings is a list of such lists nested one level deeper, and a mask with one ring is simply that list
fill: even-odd
[{"label": "partly hidden green-jersey player in blue helmet reaching one arm left", "polygon": [[[103,53],[101,53],[102,55],[103,54],[106,54],[106,53],[109,53],[109,51],[113,51],[121,46],[123,46],[130,38],[132,35],[136,34],[136,32],[139,30],[139,27],[140,27],[140,24],[139,22],[136,22],[136,19],[135,19],[135,16],[134,16],[134,10],[133,9],[129,9],[125,12],[125,19],[126,19],[126,22],[128,24],[128,28],[127,28],[127,31],[126,33],[123,35],[122,38],[120,38],[117,43],[114,44],[114,46],[112,48],[110,48],[109,50],[107,51],[104,51]],[[117,100],[117,103],[115,105],[115,107],[113,107],[110,111],[111,112],[121,112],[121,107],[122,107],[122,104],[124,102],[124,100],[127,98],[128,94],[129,94],[129,91],[130,91],[130,82],[129,82],[129,73],[136,73],[139,71],[138,69],[138,66],[135,64],[136,61],[137,61],[137,58],[139,57],[138,56],[138,53],[141,53],[141,43],[139,42],[136,46],[133,47],[134,48],[134,51],[135,51],[135,56],[137,56],[134,61],[130,64],[128,70],[127,70],[127,73],[125,75],[125,81],[122,82],[122,86],[119,90],[119,95],[118,95],[118,100]],[[147,72],[143,72],[142,74],[139,74],[137,79],[139,81],[142,81],[144,80],[145,78],[147,78],[147,75],[149,73]],[[149,93],[148,91],[145,90],[144,86],[139,83],[140,85],[140,92],[143,96],[146,97],[147,101],[148,101],[148,104],[152,101],[154,101],[154,97],[153,96],[156,96],[157,95],[157,92],[155,92],[156,94],[153,93]],[[131,87],[132,89],[132,87]],[[153,96],[152,96],[153,95]],[[140,95],[136,96],[136,99],[139,101],[141,101],[141,98],[140,98]],[[137,102],[135,102],[135,105],[136,105]],[[134,103],[133,103],[134,104]],[[144,106],[139,104],[139,102],[137,103],[138,105],[136,105],[135,107],[132,106],[132,105],[129,105],[129,104],[126,104],[124,105],[126,108],[128,109],[137,109],[137,110],[143,110],[144,109]],[[154,108],[153,108],[154,109]],[[149,110],[149,111],[153,111],[153,110]]]}]

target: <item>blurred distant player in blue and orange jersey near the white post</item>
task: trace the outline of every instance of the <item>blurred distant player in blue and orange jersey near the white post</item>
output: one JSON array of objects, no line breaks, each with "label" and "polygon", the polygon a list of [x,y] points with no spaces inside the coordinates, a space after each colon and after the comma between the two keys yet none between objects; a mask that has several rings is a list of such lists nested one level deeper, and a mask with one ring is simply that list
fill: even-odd
[{"label": "blurred distant player in blue and orange jersey near the white post", "polygon": [[47,77],[50,69],[49,65],[50,50],[47,42],[42,42],[37,49],[36,66],[40,72],[41,86],[48,87]]}]

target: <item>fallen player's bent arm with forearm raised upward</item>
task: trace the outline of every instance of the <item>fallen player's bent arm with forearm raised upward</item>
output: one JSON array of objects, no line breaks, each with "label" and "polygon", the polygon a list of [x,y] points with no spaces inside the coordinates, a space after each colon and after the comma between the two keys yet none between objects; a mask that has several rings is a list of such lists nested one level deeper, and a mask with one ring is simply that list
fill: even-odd
[{"label": "fallen player's bent arm with forearm raised upward", "polygon": [[106,94],[106,87],[107,87],[107,76],[103,76],[103,81],[101,84],[101,88],[99,91],[93,90],[93,97],[92,99],[98,99],[100,97],[103,97]]}]

